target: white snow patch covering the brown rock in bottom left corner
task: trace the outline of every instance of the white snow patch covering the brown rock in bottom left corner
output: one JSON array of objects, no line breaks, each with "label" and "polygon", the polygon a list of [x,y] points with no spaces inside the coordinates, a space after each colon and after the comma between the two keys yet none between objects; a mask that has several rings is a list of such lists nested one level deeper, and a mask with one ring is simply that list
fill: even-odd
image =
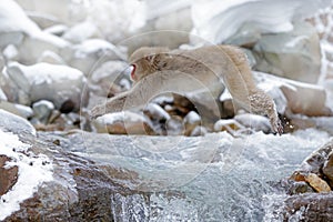
[{"label": "white snow patch covering the brown rock in bottom left corner", "polygon": [[11,159],[6,167],[18,167],[17,183],[0,198],[0,220],[4,220],[20,210],[20,203],[31,198],[39,185],[53,178],[50,160],[46,155],[28,151],[30,145],[21,142],[18,135],[0,129],[0,154]]}]

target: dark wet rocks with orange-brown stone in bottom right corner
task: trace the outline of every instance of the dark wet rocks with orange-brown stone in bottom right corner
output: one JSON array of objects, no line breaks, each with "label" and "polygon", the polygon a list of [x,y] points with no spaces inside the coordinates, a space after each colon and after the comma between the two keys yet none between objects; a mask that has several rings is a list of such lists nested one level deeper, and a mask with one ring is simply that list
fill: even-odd
[{"label": "dark wet rocks with orange-brown stone in bottom right corner", "polygon": [[312,153],[301,169],[282,183],[289,195],[275,202],[275,210],[266,214],[275,215],[272,218],[278,221],[332,221],[332,150],[333,140]]}]

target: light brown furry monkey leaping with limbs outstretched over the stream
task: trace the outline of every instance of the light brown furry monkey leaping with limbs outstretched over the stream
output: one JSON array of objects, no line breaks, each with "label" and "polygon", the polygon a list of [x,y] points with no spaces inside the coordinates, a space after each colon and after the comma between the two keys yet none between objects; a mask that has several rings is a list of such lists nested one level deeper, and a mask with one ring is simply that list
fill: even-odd
[{"label": "light brown furry monkey leaping with limbs outstretched over the stream", "polygon": [[133,68],[133,88],[93,108],[92,118],[144,105],[159,92],[182,94],[206,88],[211,89],[212,97],[218,97],[215,92],[224,83],[235,107],[268,115],[272,131],[283,132],[274,101],[256,88],[248,58],[236,47],[208,46],[192,50],[140,48],[129,61]]}]

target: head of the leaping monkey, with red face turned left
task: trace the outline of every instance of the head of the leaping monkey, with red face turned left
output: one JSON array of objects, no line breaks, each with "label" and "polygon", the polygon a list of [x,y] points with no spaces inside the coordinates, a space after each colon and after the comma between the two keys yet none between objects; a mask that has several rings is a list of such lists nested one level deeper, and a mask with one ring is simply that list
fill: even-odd
[{"label": "head of the leaping monkey, with red face turned left", "polygon": [[135,50],[129,59],[132,65],[132,81],[138,82],[140,79],[159,70],[160,56],[168,51],[170,50],[164,47],[142,47]]}]

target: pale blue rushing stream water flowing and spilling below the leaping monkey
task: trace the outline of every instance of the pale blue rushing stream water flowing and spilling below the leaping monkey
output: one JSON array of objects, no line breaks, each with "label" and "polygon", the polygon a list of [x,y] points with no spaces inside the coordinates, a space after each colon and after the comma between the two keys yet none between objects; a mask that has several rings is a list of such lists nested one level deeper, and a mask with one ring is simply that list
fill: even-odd
[{"label": "pale blue rushing stream water flowing and spilling below the leaping monkey", "polygon": [[111,196],[115,221],[271,221],[270,208],[282,195],[274,184],[327,139],[317,130],[238,139],[84,133],[70,137],[70,148],[121,169],[110,176],[138,191]]}]

